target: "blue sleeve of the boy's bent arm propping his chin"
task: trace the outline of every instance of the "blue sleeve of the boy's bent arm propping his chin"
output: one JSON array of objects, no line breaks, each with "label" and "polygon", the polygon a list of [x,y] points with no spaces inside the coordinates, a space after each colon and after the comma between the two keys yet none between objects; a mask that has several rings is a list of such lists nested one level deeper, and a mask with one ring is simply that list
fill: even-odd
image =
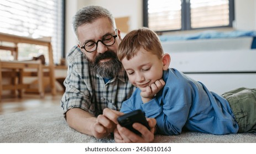
[{"label": "blue sleeve of the boy's bent arm propping his chin", "polygon": [[[175,84],[180,85],[178,82]],[[166,88],[160,96],[156,96],[148,103],[143,103],[142,108],[145,116],[157,120],[157,133],[164,135],[181,133],[190,113],[191,90],[189,86]]]}]

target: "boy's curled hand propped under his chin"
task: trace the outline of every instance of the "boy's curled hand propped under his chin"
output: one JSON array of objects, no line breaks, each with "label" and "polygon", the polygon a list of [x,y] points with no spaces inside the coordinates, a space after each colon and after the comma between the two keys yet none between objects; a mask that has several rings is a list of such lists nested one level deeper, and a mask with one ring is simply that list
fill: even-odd
[{"label": "boy's curled hand propped under his chin", "polygon": [[143,103],[150,101],[165,85],[163,79],[156,80],[155,83],[151,84],[150,86],[145,87],[140,92],[140,96],[142,96]]}]

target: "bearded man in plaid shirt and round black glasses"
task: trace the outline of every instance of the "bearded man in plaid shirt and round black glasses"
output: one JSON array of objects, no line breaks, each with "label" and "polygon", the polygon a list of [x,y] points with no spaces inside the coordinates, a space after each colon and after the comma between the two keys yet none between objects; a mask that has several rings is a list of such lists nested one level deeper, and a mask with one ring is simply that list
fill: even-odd
[{"label": "bearded man in plaid shirt and round black glasses", "polygon": [[[116,129],[122,102],[134,90],[116,54],[121,32],[112,14],[98,6],[80,9],[74,17],[73,28],[79,42],[67,56],[69,69],[61,107],[71,128],[104,138]],[[154,129],[155,119],[148,120]],[[135,127],[142,136],[123,128],[119,133],[124,134],[124,142],[153,141],[152,130],[140,124]]]}]

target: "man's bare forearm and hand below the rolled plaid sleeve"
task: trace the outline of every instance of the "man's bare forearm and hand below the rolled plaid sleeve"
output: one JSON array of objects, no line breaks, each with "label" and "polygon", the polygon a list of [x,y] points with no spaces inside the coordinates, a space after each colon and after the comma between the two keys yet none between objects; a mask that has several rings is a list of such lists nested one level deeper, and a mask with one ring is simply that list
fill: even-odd
[{"label": "man's bare forearm and hand below the rolled plaid sleeve", "polygon": [[[101,119],[101,116],[98,118]],[[111,129],[103,127],[102,124],[97,122],[96,117],[80,108],[69,109],[66,112],[66,120],[71,128],[83,134],[95,136],[98,139],[111,133]]]}]

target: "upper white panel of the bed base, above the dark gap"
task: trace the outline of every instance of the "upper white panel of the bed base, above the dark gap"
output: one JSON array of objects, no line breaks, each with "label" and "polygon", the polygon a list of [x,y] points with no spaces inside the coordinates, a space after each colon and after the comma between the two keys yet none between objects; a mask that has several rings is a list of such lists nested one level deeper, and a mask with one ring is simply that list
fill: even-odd
[{"label": "upper white panel of the bed base, above the dark gap", "polygon": [[256,72],[256,50],[166,53],[182,72]]}]

